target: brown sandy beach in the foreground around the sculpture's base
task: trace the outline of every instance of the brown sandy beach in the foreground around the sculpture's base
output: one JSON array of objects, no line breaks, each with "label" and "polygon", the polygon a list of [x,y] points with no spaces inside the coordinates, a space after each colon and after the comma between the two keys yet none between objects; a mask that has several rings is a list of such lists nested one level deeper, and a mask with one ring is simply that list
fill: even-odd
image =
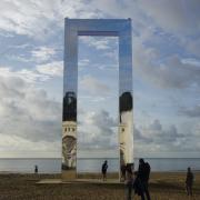
[{"label": "brown sandy beach in the foreground around the sculpture's base", "polygon": [[[187,200],[186,173],[151,173],[152,200]],[[200,199],[200,172],[194,172],[193,198]],[[42,179],[60,179],[60,174],[0,173],[0,200],[124,200],[123,184],[71,183],[37,184]],[[139,200],[136,197],[134,200]]]}]

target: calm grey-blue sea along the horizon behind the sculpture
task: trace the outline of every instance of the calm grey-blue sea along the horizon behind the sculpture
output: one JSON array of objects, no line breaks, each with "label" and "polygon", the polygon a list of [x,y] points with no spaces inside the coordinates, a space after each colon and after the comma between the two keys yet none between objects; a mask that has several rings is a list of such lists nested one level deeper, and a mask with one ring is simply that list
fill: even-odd
[{"label": "calm grey-blue sea along the horizon behind the sculpture", "polygon": [[[100,172],[101,164],[108,160],[108,172],[119,171],[118,158],[79,158],[77,160],[78,172]],[[138,160],[134,159],[134,169],[138,169]],[[146,158],[151,166],[151,171],[186,171],[191,167],[193,171],[200,171],[200,158]],[[32,173],[38,166],[39,173],[60,173],[61,158],[1,158],[1,173]]]}]

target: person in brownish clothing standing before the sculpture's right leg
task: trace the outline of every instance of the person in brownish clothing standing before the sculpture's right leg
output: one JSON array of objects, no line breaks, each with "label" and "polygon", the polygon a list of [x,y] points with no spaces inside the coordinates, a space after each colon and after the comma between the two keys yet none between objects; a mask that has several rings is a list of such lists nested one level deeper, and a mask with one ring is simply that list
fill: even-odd
[{"label": "person in brownish clothing standing before the sculpture's right leg", "polygon": [[133,172],[132,172],[132,167],[130,164],[126,167],[126,187],[127,187],[127,200],[131,200],[132,188],[133,188]]}]

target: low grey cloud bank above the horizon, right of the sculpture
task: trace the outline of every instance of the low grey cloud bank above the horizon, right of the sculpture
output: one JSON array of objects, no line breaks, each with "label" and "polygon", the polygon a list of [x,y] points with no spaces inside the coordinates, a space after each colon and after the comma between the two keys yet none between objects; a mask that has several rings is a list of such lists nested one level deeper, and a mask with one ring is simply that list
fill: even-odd
[{"label": "low grey cloud bank above the horizon, right of the sculpture", "polygon": [[186,152],[198,152],[197,132],[180,132],[179,129],[174,124],[163,127],[159,120],[153,120],[149,126],[134,127],[136,154],[166,157],[176,152],[176,156],[184,158]]}]

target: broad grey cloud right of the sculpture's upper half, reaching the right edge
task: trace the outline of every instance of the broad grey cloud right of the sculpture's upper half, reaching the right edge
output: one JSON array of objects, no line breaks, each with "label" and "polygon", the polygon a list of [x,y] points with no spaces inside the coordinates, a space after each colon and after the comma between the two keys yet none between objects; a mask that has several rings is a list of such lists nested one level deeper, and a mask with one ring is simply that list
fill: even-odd
[{"label": "broad grey cloud right of the sculpture's upper half, reaching the right edge", "polygon": [[140,42],[134,47],[134,69],[154,87],[186,89],[200,86],[198,66],[182,62],[178,56],[168,57],[164,62],[159,61],[159,52],[154,48],[144,47]]}]

